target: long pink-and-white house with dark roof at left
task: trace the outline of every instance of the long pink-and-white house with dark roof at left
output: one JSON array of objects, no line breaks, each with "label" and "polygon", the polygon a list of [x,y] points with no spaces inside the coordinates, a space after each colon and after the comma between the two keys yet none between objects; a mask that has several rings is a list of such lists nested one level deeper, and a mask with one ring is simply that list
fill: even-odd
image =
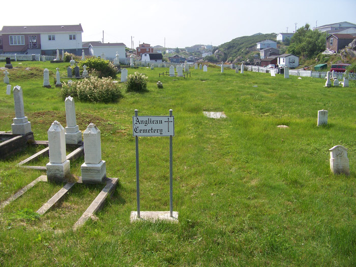
[{"label": "long pink-and-white house with dark roof at left", "polygon": [[4,53],[54,55],[63,49],[81,55],[81,24],[3,26],[1,32]]}]

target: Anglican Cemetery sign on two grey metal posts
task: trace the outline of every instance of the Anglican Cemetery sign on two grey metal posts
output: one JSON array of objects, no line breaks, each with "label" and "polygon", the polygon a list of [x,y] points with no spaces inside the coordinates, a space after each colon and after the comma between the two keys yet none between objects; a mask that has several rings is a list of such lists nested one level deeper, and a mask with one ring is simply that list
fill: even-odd
[{"label": "Anglican Cemetery sign on two grey metal posts", "polygon": [[[140,182],[139,182],[139,161],[138,161],[138,137],[139,136],[169,136],[169,217],[173,218],[173,136],[174,136],[174,116],[173,110],[169,110],[169,116],[132,116],[132,132],[136,139],[136,190],[137,190],[137,218],[140,214]],[[145,212],[142,212],[145,213]],[[148,212],[158,213],[158,212]],[[177,214],[177,213],[176,213]],[[150,215],[151,216],[151,215]],[[159,215],[157,215],[159,216]],[[149,217],[149,215],[147,215]],[[155,218],[154,216],[150,217]],[[175,218],[176,219],[176,218]]]}]

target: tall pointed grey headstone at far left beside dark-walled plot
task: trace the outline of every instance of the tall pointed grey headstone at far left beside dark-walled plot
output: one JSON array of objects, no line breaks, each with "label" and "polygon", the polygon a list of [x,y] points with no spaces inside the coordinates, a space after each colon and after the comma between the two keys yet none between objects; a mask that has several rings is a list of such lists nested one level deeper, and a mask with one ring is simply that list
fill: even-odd
[{"label": "tall pointed grey headstone at far left beside dark-walled plot", "polygon": [[23,95],[20,86],[16,85],[13,90],[15,102],[15,118],[14,123],[11,125],[12,134],[26,134],[31,132],[31,123],[25,116],[23,107]]}]

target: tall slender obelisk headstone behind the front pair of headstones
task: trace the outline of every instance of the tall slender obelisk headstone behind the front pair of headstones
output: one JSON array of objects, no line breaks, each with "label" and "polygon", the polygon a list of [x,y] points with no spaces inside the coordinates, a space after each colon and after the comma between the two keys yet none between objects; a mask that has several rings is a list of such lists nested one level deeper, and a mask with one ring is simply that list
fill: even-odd
[{"label": "tall slender obelisk headstone behind the front pair of headstones", "polygon": [[75,116],[75,104],[74,99],[69,96],[64,101],[66,105],[66,144],[77,144],[81,142],[81,132],[77,125],[77,119]]}]

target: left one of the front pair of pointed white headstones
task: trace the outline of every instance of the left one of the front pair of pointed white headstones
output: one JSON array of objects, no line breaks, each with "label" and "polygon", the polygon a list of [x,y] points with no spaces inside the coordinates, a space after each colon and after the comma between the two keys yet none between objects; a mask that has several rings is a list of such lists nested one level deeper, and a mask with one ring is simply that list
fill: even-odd
[{"label": "left one of the front pair of pointed white headstones", "polygon": [[70,162],[66,155],[66,138],[63,126],[54,121],[48,129],[49,163],[46,164],[49,182],[64,182],[70,174]]}]

